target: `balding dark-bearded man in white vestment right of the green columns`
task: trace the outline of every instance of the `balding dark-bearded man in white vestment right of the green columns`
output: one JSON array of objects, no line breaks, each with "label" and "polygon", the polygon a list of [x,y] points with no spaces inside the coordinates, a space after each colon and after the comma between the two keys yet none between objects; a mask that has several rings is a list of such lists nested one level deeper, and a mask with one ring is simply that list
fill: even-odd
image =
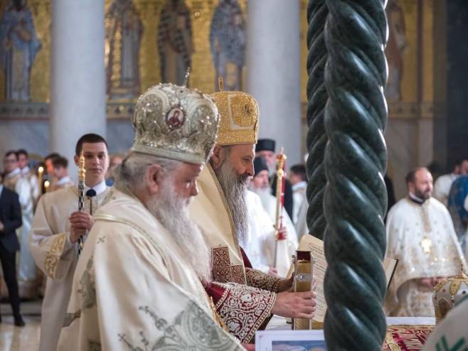
[{"label": "balding dark-bearded man in white vestment right of the green columns", "polygon": [[442,277],[466,265],[452,219],[442,202],[431,197],[432,175],[416,168],[406,176],[408,197],[387,217],[386,256],[398,259],[387,292],[385,312],[392,316],[433,317],[432,291]]}]

